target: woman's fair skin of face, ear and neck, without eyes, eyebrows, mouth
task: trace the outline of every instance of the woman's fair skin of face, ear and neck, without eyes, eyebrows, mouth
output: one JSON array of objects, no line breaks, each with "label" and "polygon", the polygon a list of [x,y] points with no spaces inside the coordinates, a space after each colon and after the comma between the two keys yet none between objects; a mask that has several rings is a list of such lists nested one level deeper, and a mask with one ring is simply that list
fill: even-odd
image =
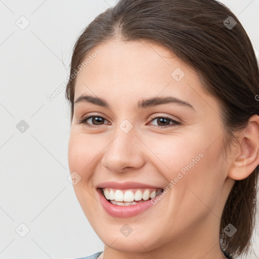
[{"label": "woman's fair skin of face, ear and neck, without eyes, eyebrows, mouth", "polygon": [[[220,218],[235,180],[248,177],[259,163],[259,117],[251,117],[226,159],[219,104],[202,91],[193,69],[151,42],[116,38],[96,49],[100,54],[77,75],[74,100],[82,94],[97,96],[111,109],[75,104],[68,160],[70,172],[81,177],[75,194],[105,244],[104,258],[225,258],[219,244]],[[180,81],[171,76],[176,68],[185,73]],[[173,103],[136,108],[144,98],[167,95],[189,102],[195,111]],[[167,120],[170,127],[152,128],[165,125],[150,119],[153,114],[182,124]],[[105,120],[88,119],[94,128],[76,123],[90,115]],[[125,119],[133,125],[126,134],[119,127]],[[203,157],[141,215],[113,218],[100,204],[98,184],[136,181],[166,187],[199,153]],[[127,237],[119,231],[124,224],[133,230]]]}]

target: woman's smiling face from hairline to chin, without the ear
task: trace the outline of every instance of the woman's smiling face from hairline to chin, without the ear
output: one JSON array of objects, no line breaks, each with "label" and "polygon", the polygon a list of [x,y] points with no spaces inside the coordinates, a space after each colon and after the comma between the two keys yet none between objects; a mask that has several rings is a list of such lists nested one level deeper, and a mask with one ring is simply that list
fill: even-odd
[{"label": "woman's smiling face from hairline to chin, without the ear", "polygon": [[[114,39],[96,49],[77,75],[74,101],[84,95],[107,105],[89,98],[74,104],[68,149],[74,190],[93,229],[117,250],[186,249],[189,242],[212,249],[234,181],[217,101],[165,47]],[[151,98],[160,101],[143,101]],[[142,202],[111,204],[99,187],[128,202],[140,189]],[[159,189],[167,191],[145,201]]]}]

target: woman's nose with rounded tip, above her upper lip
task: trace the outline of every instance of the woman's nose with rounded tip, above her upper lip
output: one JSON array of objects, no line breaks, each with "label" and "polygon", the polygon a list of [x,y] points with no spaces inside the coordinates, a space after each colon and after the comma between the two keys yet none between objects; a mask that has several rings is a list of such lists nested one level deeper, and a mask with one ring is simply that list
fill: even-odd
[{"label": "woman's nose with rounded tip, above her upper lip", "polygon": [[145,163],[145,145],[131,130],[124,133],[120,128],[105,149],[102,165],[113,172],[123,172],[142,167]]}]

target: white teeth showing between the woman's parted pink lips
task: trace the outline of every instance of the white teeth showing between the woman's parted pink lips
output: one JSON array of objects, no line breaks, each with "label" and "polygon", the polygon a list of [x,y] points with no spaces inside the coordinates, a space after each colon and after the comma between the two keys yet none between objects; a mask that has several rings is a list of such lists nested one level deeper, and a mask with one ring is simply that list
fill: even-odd
[{"label": "white teeth showing between the woman's parted pink lips", "polygon": [[114,188],[101,188],[105,199],[118,206],[136,205],[151,200],[163,192],[157,188],[136,188],[119,190]]}]

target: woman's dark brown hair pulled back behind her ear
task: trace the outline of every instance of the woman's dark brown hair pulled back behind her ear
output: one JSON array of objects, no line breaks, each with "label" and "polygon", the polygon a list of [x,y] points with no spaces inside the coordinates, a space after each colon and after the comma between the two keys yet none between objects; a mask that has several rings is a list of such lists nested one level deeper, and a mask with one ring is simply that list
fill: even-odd
[{"label": "woman's dark brown hair pulled back behind her ear", "polygon": [[[226,154],[235,133],[252,115],[259,115],[254,50],[243,26],[226,6],[214,0],[121,0],[97,16],[76,41],[66,89],[71,121],[75,71],[94,48],[115,37],[162,44],[197,71],[204,92],[220,103]],[[235,181],[223,210],[219,238],[221,248],[232,256],[247,255],[251,246],[258,170],[257,165],[246,179]],[[228,224],[237,229],[232,237],[223,231]]]}]

